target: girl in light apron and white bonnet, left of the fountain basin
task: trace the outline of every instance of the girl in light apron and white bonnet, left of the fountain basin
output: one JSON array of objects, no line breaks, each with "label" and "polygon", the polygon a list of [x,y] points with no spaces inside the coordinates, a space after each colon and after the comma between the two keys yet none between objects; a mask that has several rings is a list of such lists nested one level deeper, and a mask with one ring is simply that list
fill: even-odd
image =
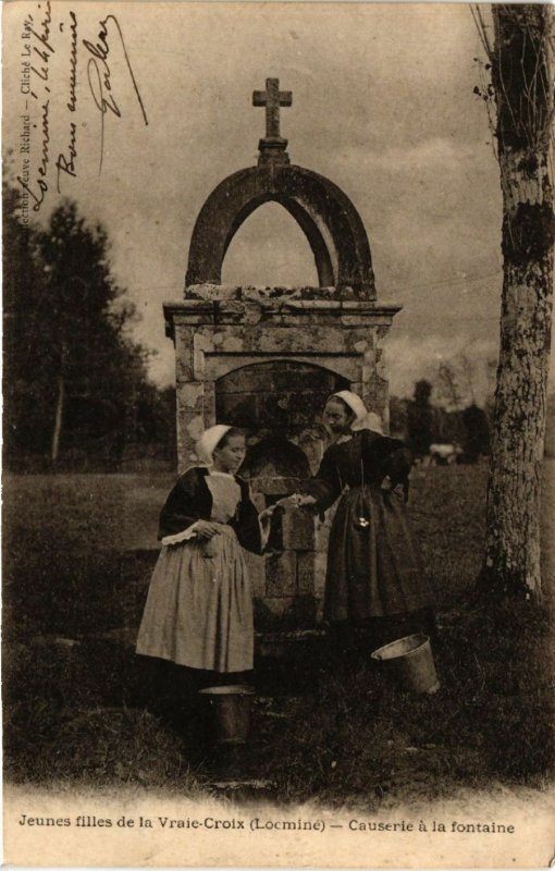
[{"label": "girl in light apron and white bonnet, left of the fountain basin", "polygon": [[[178,479],[160,515],[162,550],[137,653],[195,670],[197,688],[238,682],[252,668],[252,599],[243,549],[260,553],[272,510],[260,515],[236,473],[244,433],[207,429],[202,465]],[[262,529],[263,527],[263,529]]]}]

